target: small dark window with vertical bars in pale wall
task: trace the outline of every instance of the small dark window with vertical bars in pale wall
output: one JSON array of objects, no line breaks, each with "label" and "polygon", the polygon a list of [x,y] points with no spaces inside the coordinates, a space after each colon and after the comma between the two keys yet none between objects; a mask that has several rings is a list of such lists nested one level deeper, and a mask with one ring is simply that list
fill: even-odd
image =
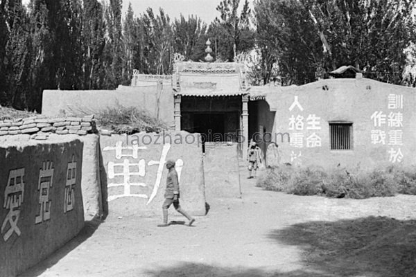
[{"label": "small dark window with vertical bars in pale wall", "polygon": [[352,149],[352,123],[329,123],[331,150]]}]

